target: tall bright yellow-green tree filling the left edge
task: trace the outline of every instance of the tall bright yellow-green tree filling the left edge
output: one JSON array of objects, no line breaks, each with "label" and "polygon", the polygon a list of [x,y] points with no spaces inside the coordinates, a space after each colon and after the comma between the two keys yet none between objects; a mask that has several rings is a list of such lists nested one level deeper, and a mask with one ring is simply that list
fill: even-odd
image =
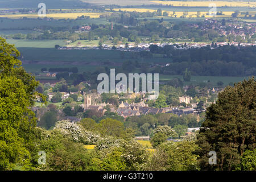
[{"label": "tall bright yellow-green tree filling the left edge", "polygon": [[[34,105],[38,82],[21,67],[20,53],[0,38],[0,170],[30,163],[35,129]],[[43,97],[45,98],[45,97]]]}]

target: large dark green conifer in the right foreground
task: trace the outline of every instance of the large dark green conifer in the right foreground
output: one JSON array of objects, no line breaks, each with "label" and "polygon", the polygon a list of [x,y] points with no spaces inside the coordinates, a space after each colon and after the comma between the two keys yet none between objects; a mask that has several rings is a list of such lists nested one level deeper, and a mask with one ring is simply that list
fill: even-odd
[{"label": "large dark green conifer in the right foreground", "polygon": [[[227,86],[218,94],[216,104],[207,108],[197,142],[202,169],[236,169],[245,151],[255,149],[255,93],[256,82],[252,77]],[[209,165],[209,151],[216,152],[217,165]]]}]

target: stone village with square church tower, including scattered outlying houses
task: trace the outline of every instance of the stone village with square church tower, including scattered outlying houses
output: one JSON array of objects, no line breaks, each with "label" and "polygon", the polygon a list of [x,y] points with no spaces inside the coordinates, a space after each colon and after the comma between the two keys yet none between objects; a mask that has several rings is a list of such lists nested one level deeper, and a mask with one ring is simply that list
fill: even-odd
[{"label": "stone village with square church tower, including scattered outlying houses", "polygon": [[[51,86],[55,86],[55,84],[51,84]],[[187,90],[188,86],[184,86],[184,89]],[[217,94],[221,92],[222,89],[219,88],[212,88],[208,89],[208,94]],[[53,103],[53,97],[56,96],[57,93],[49,92],[47,93],[48,102],[49,104]],[[119,94],[114,94],[112,98],[115,98],[117,102],[114,103],[105,103],[101,101],[101,94],[100,93],[92,93],[92,92],[60,92],[61,100],[63,104],[71,104],[71,102],[77,103],[83,113],[86,111],[92,111],[97,117],[103,117],[106,111],[110,113],[115,113],[125,120],[128,117],[133,116],[141,116],[147,114],[160,114],[160,113],[174,113],[177,115],[181,114],[195,114],[199,115],[199,110],[197,107],[199,105],[199,101],[195,102],[191,96],[181,96],[179,97],[179,103],[177,105],[166,106],[162,108],[148,106],[148,96],[145,93],[133,93],[133,94],[124,94],[120,96]],[[77,102],[73,100],[70,101],[69,98],[76,95]],[[137,101],[137,98],[141,98],[141,101]],[[137,102],[134,102],[134,101]],[[129,102],[128,102],[129,101]],[[70,102],[70,103],[69,103]],[[80,104],[81,103],[81,104]],[[208,101],[206,99],[205,104],[203,105],[203,110],[200,112],[205,111],[205,106],[209,106],[210,104],[215,104],[216,100],[213,102]],[[54,103],[53,103],[54,104]],[[71,110],[75,110],[75,105],[71,107]],[[34,107],[34,111],[38,110],[40,106]],[[62,109],[61,109],[62,110]],[[39,118],[40,119],[40,118]],[[79,117],[68,117],[69,120],[72,122],[80,121],[81,118]],[[198,118],[199,119],[199,118]]]}]

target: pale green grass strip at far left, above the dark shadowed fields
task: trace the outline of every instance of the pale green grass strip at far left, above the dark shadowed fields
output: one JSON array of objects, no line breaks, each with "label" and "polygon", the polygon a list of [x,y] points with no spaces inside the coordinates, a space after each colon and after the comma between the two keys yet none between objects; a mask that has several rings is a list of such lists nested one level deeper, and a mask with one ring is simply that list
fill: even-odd
[{"label": "pale green grass strip at far left, above the dark shadowed fields", "polygon": [[64,40],[14,40],[7,39],[7,43],[14,44],[15,47],[34,47],[34,48],[54,48],[56,44],[64,45]]}]

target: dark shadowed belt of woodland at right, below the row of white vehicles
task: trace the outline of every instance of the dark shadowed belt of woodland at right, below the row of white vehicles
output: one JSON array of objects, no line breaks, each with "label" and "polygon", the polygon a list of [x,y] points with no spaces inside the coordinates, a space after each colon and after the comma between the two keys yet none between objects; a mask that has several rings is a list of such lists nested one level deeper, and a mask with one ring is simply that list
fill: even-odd
[{"label": "dark shadowed belt of woodland at right, below the row of white vehicles", "polygon": [[175,49],[152,45],[150,52],[170,57],[173,63],[162,70],[170,75],[183,75],[186,68],[191,75],[202,76],[250,76],[256,73],[255,46]]}]

